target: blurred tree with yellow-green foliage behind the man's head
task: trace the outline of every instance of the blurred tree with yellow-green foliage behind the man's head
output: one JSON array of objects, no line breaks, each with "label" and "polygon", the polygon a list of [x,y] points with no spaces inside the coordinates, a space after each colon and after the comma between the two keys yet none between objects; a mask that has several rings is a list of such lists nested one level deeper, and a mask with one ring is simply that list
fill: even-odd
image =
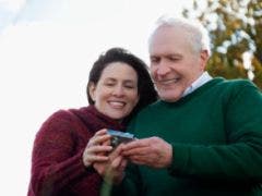
[{"label": "blurred tree with yellow-green foliage behind the man's head", "polygon": [[182,14],[210,33],[211,75],[249,78],[262,89],[262,0],[194,0]]}]

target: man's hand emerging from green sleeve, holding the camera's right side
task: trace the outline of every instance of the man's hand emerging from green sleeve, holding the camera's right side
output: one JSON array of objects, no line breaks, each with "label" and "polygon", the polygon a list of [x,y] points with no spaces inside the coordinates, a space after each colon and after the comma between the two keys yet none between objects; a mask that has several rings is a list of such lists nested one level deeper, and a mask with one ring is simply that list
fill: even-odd
[{"label": "man's hand emerging from green sleeve, holding the camera's right side", "polygon": [[121,155],[136,164],[166,168],[171,163],[172,147],[159,137],[150,137],[123,145]]}]

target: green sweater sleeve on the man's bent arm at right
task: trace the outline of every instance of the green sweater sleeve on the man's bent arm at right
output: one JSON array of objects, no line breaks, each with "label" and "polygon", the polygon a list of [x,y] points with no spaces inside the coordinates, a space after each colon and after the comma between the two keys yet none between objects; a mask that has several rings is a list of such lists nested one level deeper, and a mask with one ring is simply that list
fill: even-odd
[{"label": "green sweater sleeve on the man's bent arm at right", "polygon": [[227,144],[172,144],[171,175],[262,182],[262,95],[243,84],[225,106]]}]

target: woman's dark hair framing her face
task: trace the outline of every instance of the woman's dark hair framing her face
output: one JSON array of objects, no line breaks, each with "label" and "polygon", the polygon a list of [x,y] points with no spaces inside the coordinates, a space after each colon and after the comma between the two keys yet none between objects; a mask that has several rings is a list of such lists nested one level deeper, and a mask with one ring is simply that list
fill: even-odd
[{"label": "woman's dark hair framing her face", "polygon": [[86,87],[87,99],[90,105],[94,105],[88,90],[90,84],[93,83],[96,85],[105,68],[107,68],[107,65],[112,62],[127,63],[133,68],[138,74],[138,93],[140,100],[131,114],[128,117],[128,119],[131,119],[131,117],[134,115],[139,110],[154,102],[157,99],[157,93],[154,88],[154,84],[151,79],[146,64],[140,58],[135,57],[123,48],[111,48],[105,53],[100,54],[99,58],[95,61],[91,69]]}]

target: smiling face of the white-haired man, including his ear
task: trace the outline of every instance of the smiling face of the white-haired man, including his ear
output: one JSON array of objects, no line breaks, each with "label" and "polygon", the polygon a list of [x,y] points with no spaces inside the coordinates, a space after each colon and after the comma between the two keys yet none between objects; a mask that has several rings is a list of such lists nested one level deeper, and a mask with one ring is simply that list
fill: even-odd
[{"label": "smiling face of the white-haired man, including his ear", "polygon": [[172,102],[204,71],[206,52],[195,52],[182,29],[162,26],[150,42],[151,74],[160,99]]}]

